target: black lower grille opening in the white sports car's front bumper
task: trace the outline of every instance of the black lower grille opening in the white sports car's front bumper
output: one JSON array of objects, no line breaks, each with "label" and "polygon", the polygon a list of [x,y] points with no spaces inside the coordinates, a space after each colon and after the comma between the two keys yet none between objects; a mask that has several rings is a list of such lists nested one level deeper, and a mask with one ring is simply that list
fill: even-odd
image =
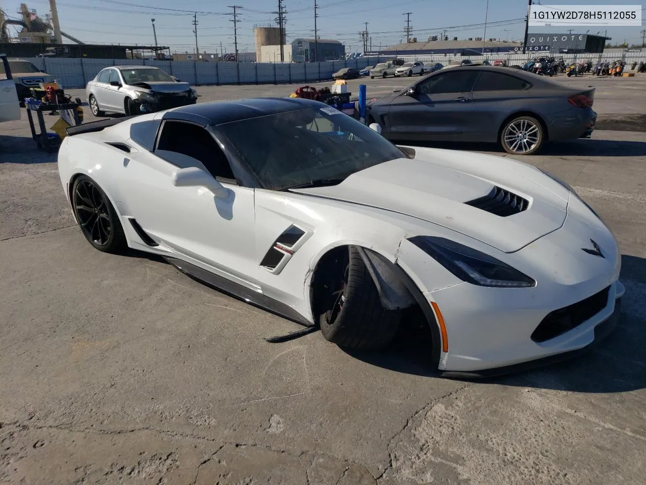
[{"label": "black lower grille opening in the white sports car's front bumper", "polygon": [[536,327],[536,330],[532,333],[532,340],[544,342],[578,327],[608,305],[609,292],[610,286],[585,300],[554,310],[554,312],[543,318],[543,321]]}]

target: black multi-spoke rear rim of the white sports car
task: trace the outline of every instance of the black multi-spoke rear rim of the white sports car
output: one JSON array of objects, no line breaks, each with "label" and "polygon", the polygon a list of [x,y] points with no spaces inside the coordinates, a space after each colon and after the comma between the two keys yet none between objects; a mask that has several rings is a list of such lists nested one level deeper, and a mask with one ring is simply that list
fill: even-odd
[{"label": "black multi-spoke rear rim of the white sports car", "polygon": [[97,246],[108,244],[112,233],[108,208],[101,191],[92,182],[83,180],[76,186],[74,208],[87,239]]}]

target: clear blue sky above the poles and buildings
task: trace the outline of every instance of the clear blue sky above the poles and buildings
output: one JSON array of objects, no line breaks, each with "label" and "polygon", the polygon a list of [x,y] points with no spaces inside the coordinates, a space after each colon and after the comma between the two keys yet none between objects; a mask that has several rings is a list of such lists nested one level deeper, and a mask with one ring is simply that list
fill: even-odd
[{"label": "clear blue sky above the poles and buildings", "polygon": [[[23,0],[40,16],[49,11],[48,0]],[[535,0],[536,1],[536,0]],[[234,3],[235,2],[235,3]],[[16,17],[19,0],[3,0],[6,14]],[[322,38],[339,39],[347,51],[360,50],[359,32],[368,22],[372,48],[386,47],[405,39],[405,12],[412,12],[412,36],[420,41],[446,30],[452,39],[469,37],[522,40],[526,0],[317,0],[317,27]],[[610,0],[541,0],[545,5],[609,5]],[[622,1],[638,5],[638,1]],[[314,0],[284,0],[287,10],[287,41],[313,37]],[[57,0],[64,32],[86,43],[121,43],[154,45],[151,18],[155,18],[159,45],[178,52],[194,50],[193,13],[198,12],[200,52],[233,51],[233,22],[229,5],[238,8],[238,50],[254,50],[253,26],[271,23],[278,10],[278,0]],[[485,34],[485,15],[487,27]],[[646,11],[642,11],[646,16]],[[642,21],[642,23],[644,23]],[[599,27],[530,27],[530,32],[596,34]],[[641,43],[642,27],[611,27],[611,43]],[[603,29],[605,30],[605,29]],[[603,33],[603,31],[602,31]]]}]

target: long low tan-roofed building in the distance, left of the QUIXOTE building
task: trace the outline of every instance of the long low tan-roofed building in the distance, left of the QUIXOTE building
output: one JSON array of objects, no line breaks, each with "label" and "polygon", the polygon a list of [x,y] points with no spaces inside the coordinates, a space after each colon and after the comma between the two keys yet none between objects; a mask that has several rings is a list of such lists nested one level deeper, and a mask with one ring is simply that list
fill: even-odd
[{"label": "long low tan-roofed building in the distance, left of the QUIXOTE building", "polygon": [[483,50],[485,54],[494,54],[502,52],[514,52],[520,43],[512,41],[499,41],[497,39],[488,39],[483,42],[482,38],[470,38],[466,40],[438,40],[437,36],[428,38],[428,41],[417,41],[417,38],[408,39],[409,42],[391,45],[382,49],[380,52],[369,52],[368,54],[379,54],[382,56],[419,56],[430,54],[450,54],[463,56],[481,55]]}]

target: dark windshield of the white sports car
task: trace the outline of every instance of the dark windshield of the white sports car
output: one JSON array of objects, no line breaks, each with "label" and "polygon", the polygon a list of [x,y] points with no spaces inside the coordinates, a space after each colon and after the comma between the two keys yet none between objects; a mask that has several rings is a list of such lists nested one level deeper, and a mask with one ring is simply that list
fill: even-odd
[{"label": "dark windshield of the white sports car", "polygon": [[340,182],[360,170],[406,156],[377,132],[331,106],[240,120],[218,125],[215,131],[270,190]]}]

